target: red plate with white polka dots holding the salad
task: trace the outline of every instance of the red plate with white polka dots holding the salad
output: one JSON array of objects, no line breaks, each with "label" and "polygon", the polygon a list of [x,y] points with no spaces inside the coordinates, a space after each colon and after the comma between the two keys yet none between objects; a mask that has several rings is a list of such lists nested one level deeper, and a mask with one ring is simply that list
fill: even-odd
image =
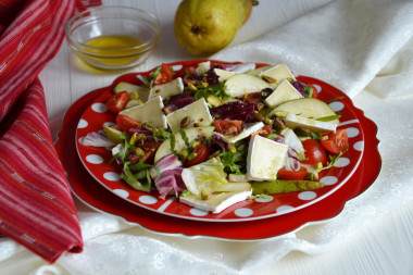
[{"label": "red plate with white polka dots holding the salad", "polygon": [[[197,66],[199,62],[178,62],[170,65],[174,67],[177,76],[183,76],[188,67]],[[218,61],[214,62],[223,63]],[[258,64],[256,66],[262,65],[265,64]],[[120,179],[121,168],[117,164],[109,164],[112,159],[109,150],[83,146],[82,139],[90,132],[100,130],[103,124],[113,124],[115,122],[115,115],[107,111],[104,103],[113,95],[113,88],[117,83],[128,82],[141,85],[142,79],[149,76],[151,72],[153,70],[146,73],[123,75],[113,85],[103,88],[102,92],[86,108],[76,130],[76,147],[86,170],[102,186],[134,204],[165,215],[196,221],[245,222],[268,218],[298,211],[330,196],[346,184],[355,172],[362,159],[364,134],[360,121],[354,113],[355,108],[351,100],[345,93],[325,83],[301,76],[298,77],[299,80],[312,84],[318,89],[318,98],[321,100],[326,101],[340,97],[340,99],[329,104],[335,111],[342,114],[340,118],[342,123],[339,127],[346,128],[350,137],[349,150],[338,160],[336,166],[321,173],[321,182],[326,184],[324,188],[313,191],[274,195],[271,199],[246,200],[227,208],[220,214],[212,214],[190,208],[179,203],[174,198],[167,200],[159,199],[157,191],[147,193],[135,190]]]}]

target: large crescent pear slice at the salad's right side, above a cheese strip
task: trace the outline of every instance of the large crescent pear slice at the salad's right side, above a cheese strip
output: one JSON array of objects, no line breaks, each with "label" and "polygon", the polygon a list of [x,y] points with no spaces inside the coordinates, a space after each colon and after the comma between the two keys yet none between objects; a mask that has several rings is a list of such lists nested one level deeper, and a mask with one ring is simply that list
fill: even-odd
[{"label": "large crescent pear slice at the salad's right side, above a cheese strip", "polygon": [[[273,109],[273,111],[267,114],[267,117],[277,113],[291,113],[313,120],[337,115],[326,102],[315,98],[300,98],[286,101]],[[339,120],[336,118],[329,121],[329,123],[338,124]]]}]

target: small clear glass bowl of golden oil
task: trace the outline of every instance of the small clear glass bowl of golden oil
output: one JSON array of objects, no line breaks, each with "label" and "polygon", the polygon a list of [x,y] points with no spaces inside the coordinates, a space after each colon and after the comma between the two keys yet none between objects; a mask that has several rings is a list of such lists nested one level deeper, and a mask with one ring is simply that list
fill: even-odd
[{"label": "small clear glass bowl of golden oil", "polygon": [[137,66],[157,48],[160,22],[139,9],[99,7],[68,20],[68,46],[86,63],[102,70]]}]

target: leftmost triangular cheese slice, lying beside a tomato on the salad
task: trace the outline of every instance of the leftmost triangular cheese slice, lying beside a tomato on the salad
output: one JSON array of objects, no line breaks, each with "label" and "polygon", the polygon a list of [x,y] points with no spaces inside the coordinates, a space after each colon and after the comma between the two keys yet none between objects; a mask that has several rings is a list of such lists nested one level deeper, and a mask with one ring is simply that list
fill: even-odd
[{"label": "leftmost triangular cheese slice, lying beside a tomato on the salad", "polygon": [[138,122],[146,122],[155,128],[166,128],[166,118],[162,108],[162,98],[158,96],[151,100],[148,100],[143,104],[126,109],[120,112],[120,114],[127,115]]}]

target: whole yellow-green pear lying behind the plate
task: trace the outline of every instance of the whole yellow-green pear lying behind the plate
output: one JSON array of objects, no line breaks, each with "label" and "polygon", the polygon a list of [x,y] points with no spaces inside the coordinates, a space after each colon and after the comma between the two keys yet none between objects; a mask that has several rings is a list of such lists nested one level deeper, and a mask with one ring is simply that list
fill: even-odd
[{"label": "whole yellow-green pear lying behind the plate", "polygon": [[183,0],[175,14],[179,45],[195,55],[225,48],[249,18],[253,0]]}]

